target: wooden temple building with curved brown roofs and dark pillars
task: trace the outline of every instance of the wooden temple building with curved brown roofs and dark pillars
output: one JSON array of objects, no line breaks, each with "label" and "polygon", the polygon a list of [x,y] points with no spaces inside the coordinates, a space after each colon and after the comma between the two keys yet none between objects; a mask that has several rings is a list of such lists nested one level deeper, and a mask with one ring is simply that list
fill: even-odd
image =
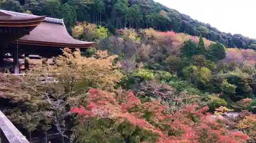
[{"label": "wooden temple building with curved brown roofs and dark pillars", "polygon": [[[0,10],[0,67],[4,67],[8,60],[13,61],[12,71],[15,74],[19,73],[20,59],[29,55],[51,58],[61,54],[61,48],[79,48],[82,51],[92,45],[93,42],[72,38],[63,19]],[[29,69],[28,61],[25,60],[23,66]]]}]

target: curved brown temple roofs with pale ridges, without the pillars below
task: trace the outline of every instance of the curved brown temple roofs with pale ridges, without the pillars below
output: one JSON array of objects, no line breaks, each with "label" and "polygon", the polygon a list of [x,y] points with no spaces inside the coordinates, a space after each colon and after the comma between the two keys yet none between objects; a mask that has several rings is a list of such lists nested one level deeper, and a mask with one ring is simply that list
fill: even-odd
[{"label": "curved brown temple roofs with pale ridges, without the pillars below", "polygon": [[84,42],[72,38],[63,19],[0,10],[0,26],[6,25],[2,25],[1,22],[11,23],[12,26],[29,26],[28,23],[34,21],[38,21],[39,24],[30,34],[13,41],[13,43],[69,48],[86,48],[94,44],[93,42]]}]

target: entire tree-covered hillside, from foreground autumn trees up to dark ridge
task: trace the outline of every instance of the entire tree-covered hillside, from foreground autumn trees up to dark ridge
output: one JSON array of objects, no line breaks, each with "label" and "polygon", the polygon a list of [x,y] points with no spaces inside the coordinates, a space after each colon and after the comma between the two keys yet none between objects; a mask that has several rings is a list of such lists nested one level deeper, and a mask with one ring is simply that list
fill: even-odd
[{"label": "entire tree-covered hillside, from foreground autumn trees up to dark ridge", "polygon": [[[0,110],[28,140],[55,131],[64,143],[256,142],[256,52],[243,49],[254,40],[153,1],[1,7],[63,17],[73,38],[95,42],[25,76],[0,74]],[[49,76],[56,82],[41,82]]]}]

